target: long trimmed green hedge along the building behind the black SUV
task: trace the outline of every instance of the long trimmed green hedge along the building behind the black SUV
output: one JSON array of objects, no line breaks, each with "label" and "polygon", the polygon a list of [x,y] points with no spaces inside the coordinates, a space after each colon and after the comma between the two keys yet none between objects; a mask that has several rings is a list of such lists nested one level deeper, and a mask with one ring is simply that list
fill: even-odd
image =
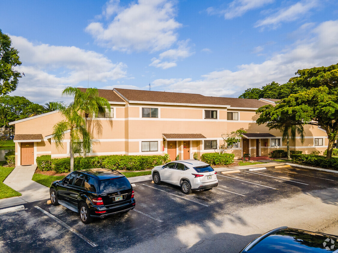
[{"label": "long trimmed green hedge along the building behind the black SUV", "polygon": [[[74,170],[91,168],[108,168],[115,170],[146,170],[167,163],[169,156],[95,156],[75,157]],[[70,171],[70,158],[53,158],[41,156],[37,158],[40,170],[54,170],[57,173]]]}]

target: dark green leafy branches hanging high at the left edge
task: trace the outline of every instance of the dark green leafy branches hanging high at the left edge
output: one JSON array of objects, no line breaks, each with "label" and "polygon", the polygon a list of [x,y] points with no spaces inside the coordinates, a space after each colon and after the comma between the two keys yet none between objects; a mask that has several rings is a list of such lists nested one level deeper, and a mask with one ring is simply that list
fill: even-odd
[{"label": "dark green leafy branches hanging high at the left edge", "polygon": [[16,90],[21,73],[14,70],[20,66],[19,51],[11,47],[12,41],[0,29],[0,95]]}]

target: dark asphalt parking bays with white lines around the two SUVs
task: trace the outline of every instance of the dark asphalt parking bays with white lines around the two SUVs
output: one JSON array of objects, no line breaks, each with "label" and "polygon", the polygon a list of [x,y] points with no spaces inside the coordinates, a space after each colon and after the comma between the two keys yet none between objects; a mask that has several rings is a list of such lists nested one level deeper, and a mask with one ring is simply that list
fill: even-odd
[{"label": "dark asphalt parking bays with white lines around the two SUVs", "polygon": [[[184,224],[203,228],[206,222],[216,223],[221,217],[230,216],[234,222],[245,225],[241,217],[232,216],[241,208],[273,203],[301,193],[317,198],[318,191],[337,188],[338,182],[337,173],[295,167],[245,169],[238,173],[218,173],[217,178],[217,188],[190,195],[165,183],[137,182],[134,210],[95,219],[88,225],[82,224],[77,214],[63,206],[48,205],[46,201],[25,204],[24,210],[0,215],[0,252],[128,251],[135,245],[161,238]],[[338,205],[338,201],[329,198],[322,201]],[[233,240],[218,241],[214,244],[214,251],[210,252],[239,252],[258,235],[224,234],[225,239],[227,236],[241,237],[240,243],[231,246]],[[165,236],[161,245],[152,247],[157,252],[176,252],[177,249],[165,246],[180,243],[175,240],[177,238]],[[184,245],[178,250],[196,251],[191,247],[185,249]]]}]

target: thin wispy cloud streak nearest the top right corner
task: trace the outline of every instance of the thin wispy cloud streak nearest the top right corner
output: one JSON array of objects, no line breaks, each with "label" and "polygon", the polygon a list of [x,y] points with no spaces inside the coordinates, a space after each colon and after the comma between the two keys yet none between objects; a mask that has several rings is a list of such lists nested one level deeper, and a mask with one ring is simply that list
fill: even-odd
[{"label": "thin wispy cloud streak nearest the top right corner", "polygon": [[283,8],[271,16],[256,22],[255,27],[272,26],[276,28],[282,22],[290,22],[299,19],[308,13],[312,8],[317,7],[318,0],[303,0],[287,8]]}]

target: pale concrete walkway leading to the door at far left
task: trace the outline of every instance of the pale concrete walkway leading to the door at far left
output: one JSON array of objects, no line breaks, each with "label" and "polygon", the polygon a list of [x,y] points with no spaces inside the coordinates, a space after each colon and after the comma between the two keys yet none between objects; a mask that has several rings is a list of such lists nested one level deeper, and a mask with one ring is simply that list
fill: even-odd
[{"label": "pale concrete walkway leading to the door at far left", "polygon": [[0,199],[0,208],[48,199],[49,188],[32,180],[36,165],[17,166],[3,181],[22,196]]}]

